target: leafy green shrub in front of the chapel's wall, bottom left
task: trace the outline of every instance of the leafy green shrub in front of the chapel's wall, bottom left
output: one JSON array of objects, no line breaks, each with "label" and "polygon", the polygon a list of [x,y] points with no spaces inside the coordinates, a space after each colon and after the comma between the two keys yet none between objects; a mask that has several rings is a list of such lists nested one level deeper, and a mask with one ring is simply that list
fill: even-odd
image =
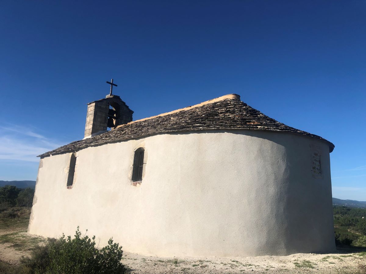
[{"label": "leafy green shrub in front of the chapel's wall, bottom left", "polygon": [[124,273],[122,247],[109,239],[108,245],[98,250],[95,236],[82,236],[79,227],[75,237],[65,237],[51,240],[43,247],[36,248],[31,258],[21,260],[21,265],[32,269],[30,273],[78,273],[78,274],[113,274]]}]

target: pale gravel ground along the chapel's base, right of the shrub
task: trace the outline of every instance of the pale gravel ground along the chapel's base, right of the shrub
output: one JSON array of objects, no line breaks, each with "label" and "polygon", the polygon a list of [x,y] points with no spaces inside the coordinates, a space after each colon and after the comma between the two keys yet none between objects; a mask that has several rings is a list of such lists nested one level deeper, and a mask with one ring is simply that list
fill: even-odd
[{"label": "pale gravel ground along the chapel's base, right of the shrub", "polygon": [[[124,252],[130,273],[357,273],[366,264],[366,252],[339,250],[335,254],[289,256],[166,258]],[[355,252],[352,250],[352,252]],[[366,272],[359,272],[366,273]]]}]

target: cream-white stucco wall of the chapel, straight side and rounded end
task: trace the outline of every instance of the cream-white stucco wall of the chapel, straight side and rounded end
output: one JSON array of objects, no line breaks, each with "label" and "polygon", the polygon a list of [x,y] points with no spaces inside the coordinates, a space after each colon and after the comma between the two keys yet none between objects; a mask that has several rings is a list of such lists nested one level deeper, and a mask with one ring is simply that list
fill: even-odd
[{"label": "cream-white stucco wall of the chapel, straight side and rounded end", "polygon": [[[134,149],[146,149],[131,186]],[[311,147],[321,151],[314,178]],[[158,134],[41,160],[29,232],[109,237],[158,256],[256,256],[335,249],[328,145],[266,131]]]}]

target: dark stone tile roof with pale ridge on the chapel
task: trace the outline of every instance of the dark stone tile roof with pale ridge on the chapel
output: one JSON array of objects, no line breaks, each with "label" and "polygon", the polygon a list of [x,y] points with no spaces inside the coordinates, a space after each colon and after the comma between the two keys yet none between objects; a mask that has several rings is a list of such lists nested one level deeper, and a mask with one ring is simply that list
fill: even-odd
[{"label": "dark stone tile roof with pale ridge on the chapel", "polygon": [[246,103],[240,101],[240,96],[234,94],[222,96],[170,113],[132,121],[97,136],[71,142],[68,145],[54,149],[53,151],[43,153],[38,157],[78,151],[89,146],[120,142],[158,133],[218,129],[291,132],[325,141],[329,145],[329,152],[332,152],[334,148],[334,145],[331,142],[320,136],[291,128],[290,126],[277,122],[275,119],[269,118],[260,111],[253,109]]}]

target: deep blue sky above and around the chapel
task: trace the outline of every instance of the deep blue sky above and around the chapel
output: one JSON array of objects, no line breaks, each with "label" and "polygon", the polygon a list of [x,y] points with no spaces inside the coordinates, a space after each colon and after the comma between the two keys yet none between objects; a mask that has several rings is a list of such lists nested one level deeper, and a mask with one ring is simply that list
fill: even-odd
[{"label": "deep blue sky above and around the chapel", "polygon": [[105,81],[134,119],[236,93],[332,141],[333,197],[366,200],[366,1],[0,1],[0,180],[83,138]]}]

